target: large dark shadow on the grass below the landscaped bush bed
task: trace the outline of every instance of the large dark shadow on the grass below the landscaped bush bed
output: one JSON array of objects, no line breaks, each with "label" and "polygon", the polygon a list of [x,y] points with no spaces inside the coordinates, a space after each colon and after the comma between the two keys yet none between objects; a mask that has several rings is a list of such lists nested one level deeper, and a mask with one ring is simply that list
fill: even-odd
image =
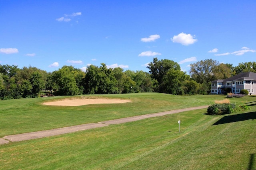
[{"label": "large dark shadow on the grass below the landscaped bush bed", "polygon": [[225,123],[232,123],[237,121],[245,121],[249,119],[256,119],[256,112],[242,113],[238,115],[224,116],[220,120],[216,121],[213,125],[220,125]]}]

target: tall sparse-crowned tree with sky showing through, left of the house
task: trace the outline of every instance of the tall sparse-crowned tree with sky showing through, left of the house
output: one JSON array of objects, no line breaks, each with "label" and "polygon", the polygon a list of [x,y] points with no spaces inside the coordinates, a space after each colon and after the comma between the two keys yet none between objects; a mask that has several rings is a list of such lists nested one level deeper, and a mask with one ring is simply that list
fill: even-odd
[{"label": "tall sparse-crowned tree with sky showing through, left of the house", "polygon": [[190,74],[192,80],[197,83],[210,83],[215,79],[214,68],[219,65],[219,62],[213,59],[201,60],[190,64]]}]

